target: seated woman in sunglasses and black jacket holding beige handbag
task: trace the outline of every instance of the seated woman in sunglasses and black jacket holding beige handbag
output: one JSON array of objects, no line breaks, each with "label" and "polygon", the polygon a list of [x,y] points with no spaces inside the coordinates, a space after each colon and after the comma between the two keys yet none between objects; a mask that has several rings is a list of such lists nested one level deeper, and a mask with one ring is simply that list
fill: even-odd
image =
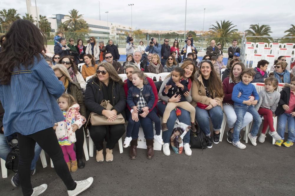
[{"label": "seated woman in sunglasses and black jacket holding beige handbag", "polygon": [[[84,94],[86,108],[90,112],[105,116],[108,122],[114,121],[117,114],[122,114],[126,119],[124,112],[126,96],[123,85],[124,82],[110,63],[100,63],[96,74],[86,85]],[[103,100],[110,102],[112,110],[106,110],[100,105]],[[113,161],[113,148],[125,132],[124,124],[91,125],[89,131],[96,148],[96,161],[104,161],[104,139],[106,139],[106,162]]]}]

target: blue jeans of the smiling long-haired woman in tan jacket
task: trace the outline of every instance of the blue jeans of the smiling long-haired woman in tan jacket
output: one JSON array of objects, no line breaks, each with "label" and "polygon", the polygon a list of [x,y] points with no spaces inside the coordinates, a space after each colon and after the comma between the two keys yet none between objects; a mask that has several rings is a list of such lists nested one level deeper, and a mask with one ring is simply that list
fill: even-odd
[{"label": "blue jeans of the smiling long-haired woman in tan jacket", "polygon": [[214,131],[219,131],[223,120],[221,107],[217,105],[210,110],[205,110],[196,106],[196,121],[206,136],[211,135],[209,117],[211,118]]}]

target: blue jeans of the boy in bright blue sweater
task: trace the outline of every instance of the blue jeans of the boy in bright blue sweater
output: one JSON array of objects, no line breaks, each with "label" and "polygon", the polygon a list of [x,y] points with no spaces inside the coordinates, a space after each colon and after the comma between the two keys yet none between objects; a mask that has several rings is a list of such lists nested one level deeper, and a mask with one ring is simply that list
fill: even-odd
[{"label": "blue jeans of the boy in bright blue sweater", "polygon": [[[232,139],[233,142],[240,141],[240,131],[242,129],[243,119],[246,112],[249,112],[253,116],[253,129],[251,130],[251,135],[256,137],[259,127],[262,123],[262,119],[258,114],[257,110],[254,108],[253,105],[235,105],[234,106],[235,113],[237,115],[237,121],[234,127],[234,138]],[[248,135],[246,135],[248,137]]]}]

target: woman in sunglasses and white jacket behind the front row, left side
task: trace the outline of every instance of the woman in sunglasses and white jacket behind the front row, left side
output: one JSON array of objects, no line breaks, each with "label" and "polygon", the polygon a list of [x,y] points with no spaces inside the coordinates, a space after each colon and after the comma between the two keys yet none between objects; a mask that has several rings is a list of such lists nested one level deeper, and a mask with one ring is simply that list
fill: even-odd
[{"label": "woman in sunglasses and white jacket behind the front row, left side", "polygon": [[71,76],[71,79],[74,82],[78,82],[80,84],[81,88],[83,88],[85,90],[86,82],[83,79],[83,76],[81,75],[81,73],[78,71],[78,67],[74,64],[73,60],[71,58],[69,58],[69,56],[63,56],[58,61],[58,63],[64,65],[67,68],[67,70]]}]

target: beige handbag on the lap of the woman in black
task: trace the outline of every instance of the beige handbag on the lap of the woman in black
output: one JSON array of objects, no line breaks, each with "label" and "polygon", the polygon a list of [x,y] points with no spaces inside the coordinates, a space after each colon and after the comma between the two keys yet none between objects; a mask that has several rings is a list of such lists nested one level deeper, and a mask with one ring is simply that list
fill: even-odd
[{"label": "beige handbag on the lap of the woman in black", "polygon": [[[106,110],[111,110],[113,108],[112,104],[110,104],[110,101],[108,100],[102,100],[101,104],[102,107],[104,107]],[[118,114],[117,118],[113,122],[108,122],[108,119],[104,115],[98,115],[94,112],[91,112],[89,115],[89,118],[87,120],[86,125],[89,123],[91,125],[119,125],[119,124],[125,124],[125,119],[122,114]]]}]

